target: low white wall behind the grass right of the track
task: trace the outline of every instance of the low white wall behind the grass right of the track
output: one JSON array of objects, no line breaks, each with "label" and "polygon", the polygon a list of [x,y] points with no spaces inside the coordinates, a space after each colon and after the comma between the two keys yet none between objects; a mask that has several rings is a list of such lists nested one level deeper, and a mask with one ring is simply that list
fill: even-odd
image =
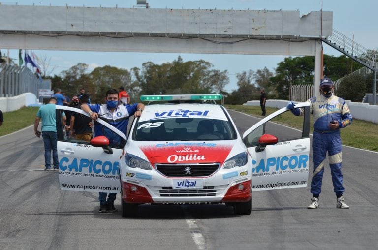
[{"label": "low white wall behind the grass right of the track", "polygon": [[[288,101],[285,100],[266,100],[267,107],[271,108],[283,108],[286,107]],[[346,101],[350,113],[352,114],[353,118],[372,122],[378,124],[378,106],[377,105],[370,105],[369,103],[362,103],[362,102],[351,102]],[[247,101],[243,105],[247,106],[260,106],[260,101]]]}]

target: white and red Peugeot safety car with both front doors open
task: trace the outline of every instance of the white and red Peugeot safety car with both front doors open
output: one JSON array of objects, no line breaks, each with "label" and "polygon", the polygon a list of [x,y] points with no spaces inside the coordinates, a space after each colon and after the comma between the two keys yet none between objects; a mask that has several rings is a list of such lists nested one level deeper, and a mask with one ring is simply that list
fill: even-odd
[{"label": "white and red Peugeot safety car with both front doors open", "polygon": [[[302,117],[278,110],[242,137],[227,110],[215,103],[221,98],[142,95],[150,104],[133,120],[127,138],[99,118],[95,126],[103,127],[104,136],[78,140],[63,133],[58,119],[61,189],[121,192],[122,216],[131,217],[144,203],[224,203],[248,215],[252,191],[306,187],[310,104],[296,105],[304,109]],[[61,112],[88,116],[57,106]],[[276,123],[284,115],[302,129],[284,131]]]}]

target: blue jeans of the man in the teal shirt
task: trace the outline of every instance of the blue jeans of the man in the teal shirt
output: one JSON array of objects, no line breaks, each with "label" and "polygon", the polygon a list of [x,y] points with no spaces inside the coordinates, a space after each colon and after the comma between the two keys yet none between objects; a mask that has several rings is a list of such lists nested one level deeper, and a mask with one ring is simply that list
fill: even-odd
[{"label": "blue jeans of the man in the teal shirt", "polygon": [[42,131],[42,138],[45,144],[45,166],[47,169],[51,168],[51,150],[53,151],[54,169],[59,168],[58,161],[58,134],[53,131]]}]

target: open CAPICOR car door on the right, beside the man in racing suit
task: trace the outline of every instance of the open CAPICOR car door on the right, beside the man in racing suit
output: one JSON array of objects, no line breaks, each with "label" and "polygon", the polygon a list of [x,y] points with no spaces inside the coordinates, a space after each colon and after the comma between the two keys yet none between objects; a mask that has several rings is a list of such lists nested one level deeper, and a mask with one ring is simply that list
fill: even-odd
[{"label": "open CAPICOR car door on the right, beside the man in racing suit", "polygon": [[[252,156],[252,191],[306,187],[309,178],[310,103],[296,104],[303,116],[282,108],[243,134]],[[296,129],[281,125],[288,117]]]}]

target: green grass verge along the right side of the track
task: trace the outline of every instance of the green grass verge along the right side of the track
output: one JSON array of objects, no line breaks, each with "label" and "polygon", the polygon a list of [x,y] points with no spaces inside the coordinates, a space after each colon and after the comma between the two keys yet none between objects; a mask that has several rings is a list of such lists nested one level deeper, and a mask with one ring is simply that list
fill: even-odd
[{"label": "green grass verge along the right side of the track", "polygon": [[[245,106],[245,105],[224,105],[228,109],[240,111],[252,116],[261,117],[260,106]],[[266,115],[270,115],[278,110],[277,108],[266,107]],[[353,116],[353,113],[352,113]],[[290,125],[295,128],[301,129],[301,125],[294,124],[292,116],[289,114],[282,115],[280,117],[280,123],[284,125]],[[313,124],[313,118],[311,117],[311,124]],[[311,125],[310,132],[313,132],[313,126]],[[358,119],[353,119],[351,125],[340,130],[343,145],[367,149],[378,152],[378,124],[365,122]]]}]

